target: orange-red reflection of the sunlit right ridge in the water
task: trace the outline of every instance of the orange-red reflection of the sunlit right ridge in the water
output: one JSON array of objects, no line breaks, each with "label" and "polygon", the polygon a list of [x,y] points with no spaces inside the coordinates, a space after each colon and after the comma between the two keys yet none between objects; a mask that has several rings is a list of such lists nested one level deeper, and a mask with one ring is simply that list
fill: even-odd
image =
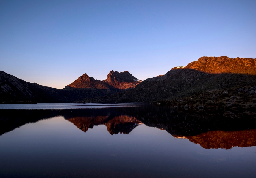
[{"label": "orange-red reflection of the sunlit right ridge in the water", "polygon": [[189,139],[205,149],[256,146],[256,129],[242,131],[209,131],[196,136],[176,136]]}]

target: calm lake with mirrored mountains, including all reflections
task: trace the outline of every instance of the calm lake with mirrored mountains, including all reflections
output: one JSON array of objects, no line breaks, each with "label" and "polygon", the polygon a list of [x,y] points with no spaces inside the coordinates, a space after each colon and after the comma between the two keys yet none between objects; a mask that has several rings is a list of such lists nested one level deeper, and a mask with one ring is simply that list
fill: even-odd
[{"label": "calm lake with mirrored mountains, including all reflections", "polygon": [[137,103],[0,108],[0,177],[256,176],[252,118]]}]

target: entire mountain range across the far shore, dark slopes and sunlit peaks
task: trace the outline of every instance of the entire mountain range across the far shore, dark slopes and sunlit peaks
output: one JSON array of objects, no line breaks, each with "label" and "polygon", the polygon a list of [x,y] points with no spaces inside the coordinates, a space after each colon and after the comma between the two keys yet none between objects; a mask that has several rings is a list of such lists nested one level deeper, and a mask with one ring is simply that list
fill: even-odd
[{"label": "entire mountain range across the far shore, dark slopes and sunlit peaks", "polygon": [[[64,89],[29,83],[0,71],[1,102],[153,102],[187,97],[206,90],[254,87],[256,59],[201,57],[164,75],[138,80],[128,71],[110,71],[106,80],[83,74]],[[127,90],[130,89],[130,90]]]}]

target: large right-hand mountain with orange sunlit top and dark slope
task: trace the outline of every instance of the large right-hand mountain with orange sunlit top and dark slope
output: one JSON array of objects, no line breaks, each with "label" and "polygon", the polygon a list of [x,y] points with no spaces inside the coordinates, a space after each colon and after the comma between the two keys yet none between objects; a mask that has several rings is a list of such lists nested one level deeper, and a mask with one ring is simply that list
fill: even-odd
[{"label": "large right-hand mountain with orange sunlit top and dark slope", "polygon": [[163,76],[148,78],[134,89],[82,102],[152,102],[187,97],[198,92],[256,85],[256,59],[201,57],[174,67]]}]

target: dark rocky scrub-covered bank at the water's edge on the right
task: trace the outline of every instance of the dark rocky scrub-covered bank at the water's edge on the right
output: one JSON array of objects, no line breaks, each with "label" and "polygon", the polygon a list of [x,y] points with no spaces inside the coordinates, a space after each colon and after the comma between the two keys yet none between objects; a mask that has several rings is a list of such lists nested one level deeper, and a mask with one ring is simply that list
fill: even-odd
[{"label": "dark rocky scrub-covered bank at the water's edge on the right", "polygon": [[170,104],[179,109],[202,112],[222,111],[226,117],[256,118],[256,86],[232,87],[226,90],[199,91],[197,94],[154,104]]}]

